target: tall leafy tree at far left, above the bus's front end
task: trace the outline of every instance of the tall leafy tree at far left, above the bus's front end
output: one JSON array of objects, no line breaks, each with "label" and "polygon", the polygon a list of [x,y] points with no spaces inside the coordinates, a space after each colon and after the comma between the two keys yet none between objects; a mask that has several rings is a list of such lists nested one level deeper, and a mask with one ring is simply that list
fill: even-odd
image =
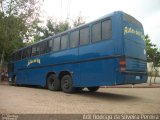
[{"label": "tall leafy tree at far left, above the bus's front end", "polygon": [[39,22],[40,1],[0,0],[0,59],[8,60],[10,54],[24,46]]}]

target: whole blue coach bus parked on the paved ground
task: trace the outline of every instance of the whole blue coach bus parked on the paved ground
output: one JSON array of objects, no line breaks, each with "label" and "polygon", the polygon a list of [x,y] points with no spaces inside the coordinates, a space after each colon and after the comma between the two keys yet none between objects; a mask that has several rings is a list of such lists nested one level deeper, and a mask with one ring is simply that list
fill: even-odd
[{"label": "whole blue coach bus parked on the paved ground", "polygon": [[17,50],[9,81],[72,93],[147,81],[142,24],[116,11]]}]

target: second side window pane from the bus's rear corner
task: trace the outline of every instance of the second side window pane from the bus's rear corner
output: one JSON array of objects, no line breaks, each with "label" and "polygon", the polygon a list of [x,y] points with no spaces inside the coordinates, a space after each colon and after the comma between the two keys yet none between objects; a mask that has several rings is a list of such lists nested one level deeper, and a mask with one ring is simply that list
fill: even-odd
[{"label": "second side window pane from the bus's rear corner", "polygon": [[101,23],[96,23],[92,26],[92,41],[100,41],[101,40]]}]

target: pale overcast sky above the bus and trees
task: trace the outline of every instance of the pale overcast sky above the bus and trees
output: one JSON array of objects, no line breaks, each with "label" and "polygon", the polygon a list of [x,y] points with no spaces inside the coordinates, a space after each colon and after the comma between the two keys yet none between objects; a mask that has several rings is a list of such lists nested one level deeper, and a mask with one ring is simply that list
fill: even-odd
[{"label": "pale overcast sky above the bus and trees", "polygon": [[71,20],[81,14],[86,22],[113,11],[124,11],[138,19],[151,41],[160,47],[160,0],[44,0],[43,17]]}]

